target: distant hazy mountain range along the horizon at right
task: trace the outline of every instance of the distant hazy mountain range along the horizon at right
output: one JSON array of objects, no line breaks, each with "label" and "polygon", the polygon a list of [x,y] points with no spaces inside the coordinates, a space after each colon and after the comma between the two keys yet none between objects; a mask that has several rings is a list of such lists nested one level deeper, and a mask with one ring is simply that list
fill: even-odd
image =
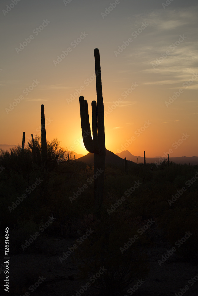
[{"label": "distant hazy mountain range along the horizon at right", "polygon": [[[143,153],[142,153],[143,154]],[[121,158],[125,158],[127,160],[132,160],[133,162],[137,163],[137,158],[138,158],[138,163],[144,163],[144,157],[142,156],[134,156],[129,152],[128,150],[122,151],[121,153],[116,153]],[[167,159],[167,157],[146,157],[146,163],[159,163],[162,161],[162,159]],[[198,156],[182,156],[182,157],[170,157],[169,156],[169,161],[172,161],[174,163],[180,163],[180,164],[193,164],[197,165],[198,164]]]}]

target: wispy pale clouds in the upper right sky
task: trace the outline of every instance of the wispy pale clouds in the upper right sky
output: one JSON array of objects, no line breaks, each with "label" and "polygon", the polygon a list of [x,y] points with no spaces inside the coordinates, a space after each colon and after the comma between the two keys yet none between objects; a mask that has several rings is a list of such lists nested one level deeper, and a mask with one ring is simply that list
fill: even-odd
[{"label": "wispy pale clouds in the upper right sky", "polygon": [[[128,54],[129,64],[143,74],[139,85],[170,84],[174,89],[177,87],[171,84],[182,85],[198,73],[197,13],[198,6],[177,10],[169,7],[136,16],[135,23],[148,24],[144,36],[133,43],[133,51]],[[188,89],[198,89],[198,81]]]}]

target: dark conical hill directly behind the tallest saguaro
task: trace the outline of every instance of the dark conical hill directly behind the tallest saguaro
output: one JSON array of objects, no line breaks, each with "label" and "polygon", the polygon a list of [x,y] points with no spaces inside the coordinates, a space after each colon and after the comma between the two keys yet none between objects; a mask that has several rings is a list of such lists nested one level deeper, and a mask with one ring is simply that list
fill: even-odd
[{"label": "dark conical hill directly behind the tallest saguaro", "polygon": [[[94,153],[89,152],[85,156],[80,157],[78,160],[93,165],[94,164]],[[119,157],[118,155],[114,154],[113,152],[111,152],[107,149],[106,149],[105,163],[106,164],[114,164],[114,165],[118,165],[118,166],[124,165],[123,159],[121,157]]]}]

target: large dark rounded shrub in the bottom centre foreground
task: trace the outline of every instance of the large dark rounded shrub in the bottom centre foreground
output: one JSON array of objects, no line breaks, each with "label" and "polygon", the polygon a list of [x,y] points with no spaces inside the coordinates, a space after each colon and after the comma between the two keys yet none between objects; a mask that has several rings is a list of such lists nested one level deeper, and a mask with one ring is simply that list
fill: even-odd
[{"label": "large dark rounded shrub in the bottom centre foreground", "polygon": [[[120,212],[119,212],[120,214]],[[120,217],[120,216],[119,216]],[[79,262],[80,278],[89,278],[106,269],[97,279],[95,288],[100,295],[115,295],[125,292],[126,287],[136,279],[144,279],[148,274],[145,256],[139,246],[144,236],[139,237],[128,250],[121,249],[130,237],[137,234],[137,229],[129,228],[127,221],[117,215],[102,217],[94,233],[81,247],[75,250],[75,260]]]}]

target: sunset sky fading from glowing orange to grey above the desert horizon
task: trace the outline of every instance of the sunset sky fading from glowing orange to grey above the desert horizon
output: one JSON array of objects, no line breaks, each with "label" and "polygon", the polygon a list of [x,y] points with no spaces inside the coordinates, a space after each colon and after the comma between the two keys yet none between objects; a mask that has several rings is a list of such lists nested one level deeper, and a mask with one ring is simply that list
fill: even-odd
[{"label": "sunset sky fading from glowing orange to grey above the desert horizon", "polygon": [[[99,48],[106,148],[116,153],[126,147],[137,156],[145,150],[146,157],[169,149],[170,157],[198,156],[196,2],[173,1],[164,9],[151,1],[143,9],[145,1],[120,1],[102,16],[107,2],[21,1],[2,17],[1,147],[21,143],[23,131],[26,141],[31,133],[40,136],[44,104],[47,139],[88,153],[79,96],[88,101],[91,118]],[[1,10],[7,3],[0,2]],[[20,49],[25,38],[29,43]]]}]

